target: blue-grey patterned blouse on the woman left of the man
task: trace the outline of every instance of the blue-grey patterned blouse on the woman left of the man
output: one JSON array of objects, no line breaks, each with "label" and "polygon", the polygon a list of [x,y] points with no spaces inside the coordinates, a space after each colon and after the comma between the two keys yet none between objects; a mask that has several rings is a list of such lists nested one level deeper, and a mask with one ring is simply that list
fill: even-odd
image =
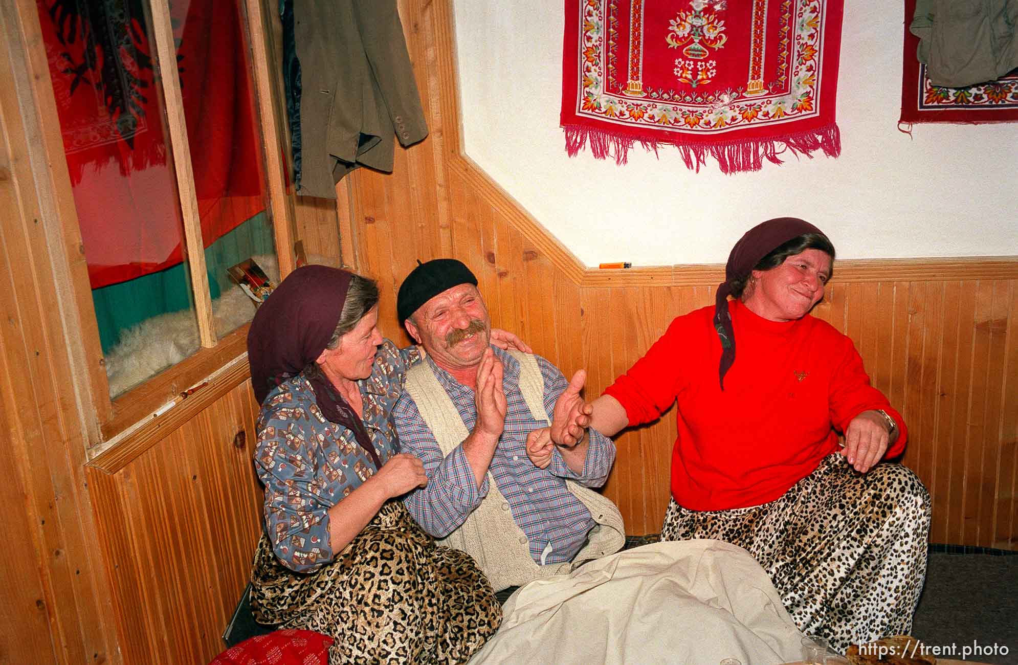
[{"label": "blue-grey patterned blouse on the woman left of the man", "polygon": [[[379,347],[372,375],[357,382],[363,421],[384,464],[399,451],[392,407],[403,391],[406,370],[420,359],[417,348]],[[330,423],[315,403],[303,373],[272,389],[258,420],[254,467],[265,485],[265,523],[276,556],[287,567],[308,572],[333,558],[329,508],[375,474],[353,432]]]}]

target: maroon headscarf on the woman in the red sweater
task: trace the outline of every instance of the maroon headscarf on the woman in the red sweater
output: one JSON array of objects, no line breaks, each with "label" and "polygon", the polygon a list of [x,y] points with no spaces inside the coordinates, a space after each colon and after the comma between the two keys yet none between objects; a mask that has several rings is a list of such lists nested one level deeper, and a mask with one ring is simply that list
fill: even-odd
[{"label": "maroon headscarf on the woman in the red sweater", "polygon": [[721,364],[718,366],[718,378],[722,390],[725,389],[725,374],[735,363],[735,331],[732,329],[732,317],[728,313],[728,296],[732,293],[732,282],[745,279],[764,257],[805,233],[824,235],[822,230],[796,217],[769,219],[746,231],[728,255],[725,281],[718,285],[714,299],[714,329],[721,338],[722,348]]}]

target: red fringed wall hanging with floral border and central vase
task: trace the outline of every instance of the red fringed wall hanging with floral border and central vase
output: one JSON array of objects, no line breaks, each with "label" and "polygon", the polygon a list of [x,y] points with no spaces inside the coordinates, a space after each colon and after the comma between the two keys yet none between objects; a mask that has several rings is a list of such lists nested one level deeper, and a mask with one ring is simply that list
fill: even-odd
[{"label": "red fringed wall hanging with floral border and central vase", "polygon": [[843,0],[566,0],[566,150],[624,164],[672,145],[725,173],[841,152]]}]

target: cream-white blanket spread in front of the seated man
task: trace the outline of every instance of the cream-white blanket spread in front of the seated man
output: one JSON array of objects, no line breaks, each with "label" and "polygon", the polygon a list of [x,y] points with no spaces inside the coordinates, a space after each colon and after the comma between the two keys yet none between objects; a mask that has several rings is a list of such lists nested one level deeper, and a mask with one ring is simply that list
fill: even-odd
[{"label": "cream-white blanket spread in front of the seated man", "polygon": [[476,663],[797,661],[801,633],[758,563],[721,541],[656,543],[532,581]]}]

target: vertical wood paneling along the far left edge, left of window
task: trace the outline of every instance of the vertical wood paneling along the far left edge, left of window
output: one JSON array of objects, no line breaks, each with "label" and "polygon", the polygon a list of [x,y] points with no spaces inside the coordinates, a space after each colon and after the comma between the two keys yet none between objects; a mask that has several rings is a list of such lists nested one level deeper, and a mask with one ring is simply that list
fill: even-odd
[{"label": "vertical wood paneling along the far left edge, left of window", "polygon": [[37,11],[0,2],[0,662],[98,665],[118,655],[66,288],[88,275],[77,243],[64,244],[77,220],[66,170],[55,175],[66,169],[60,128],[44,119],[55,115],[45,52],[19,18]]}]

